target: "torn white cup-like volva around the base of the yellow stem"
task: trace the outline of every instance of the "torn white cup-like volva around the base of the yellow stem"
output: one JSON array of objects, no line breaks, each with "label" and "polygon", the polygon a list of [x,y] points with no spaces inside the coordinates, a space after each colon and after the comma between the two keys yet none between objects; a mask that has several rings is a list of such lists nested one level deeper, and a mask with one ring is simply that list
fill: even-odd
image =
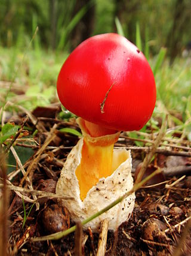
[{"label": "torn white cup-like volva around the base of the yellow stem", "polygon": [[[131,176],[131,153],[130,150],[114,149],[113,159],[120,154],[127,155],[127,159],[106,178],[101,178],[93,188],[88,191],[84,201],[80,198],[80,189],[75,171],[81,162],[81,151],[84,138],[81,138],[67,156],[64,167],[61,170],[60,178],[56,186],[58,195],[68,195],[73,200],[61,200],[60,203],[67,207],[72,221],[83,221],[94,213],[108,206],[117,198],[124,195],[133,188],[133,177]],[[121,203],[98,216],[93,221],[84,225],[85,228],[91,227],[95,232],[100,227],[100,221],[108,219],[109,229],[116,230],[124,221],[128,221],[133,212],[135,195],[134,193],[125,198]]]}]

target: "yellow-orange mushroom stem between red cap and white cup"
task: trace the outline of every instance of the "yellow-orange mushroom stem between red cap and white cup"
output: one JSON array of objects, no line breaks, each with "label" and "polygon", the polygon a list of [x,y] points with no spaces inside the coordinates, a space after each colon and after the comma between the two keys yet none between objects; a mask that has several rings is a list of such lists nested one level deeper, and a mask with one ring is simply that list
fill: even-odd
[{"label": "yellow-orange mushroom stem between red cap and white cup", "polygon": [[[119,138],[120,131],[92,137],[91,131],[97,131],[98,125],[95,125],[95,129],[90,131],[90,127],[93,127],[92,123],[87,128],[87,121],[82,118],[78,118],[77,121],[84,135],[81,164],[76,168],[76,177],[79,181],[81,200],[83,201],[90,188],[96,185],[101,177],[110,176],[127,156],[113,156],[113,146]],[[95,134],[95,132],[93,133]],[[100,132],[96,133],[103,134],[103,129],[100,128]]]}]

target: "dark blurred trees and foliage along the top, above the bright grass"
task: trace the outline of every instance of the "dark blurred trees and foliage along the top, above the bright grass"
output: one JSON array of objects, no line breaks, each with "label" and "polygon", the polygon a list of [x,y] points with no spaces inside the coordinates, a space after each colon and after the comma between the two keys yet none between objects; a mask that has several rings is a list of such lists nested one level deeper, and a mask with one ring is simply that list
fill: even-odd
[{"label": "dark blurred trees and foliage along the top, above the bright grass", "polygon": [[71,51],[91,35],[116,32],[116,17],[130,41],[138,23],[150,54],[167,47],[171,62],[191,40],[190,0],[0,0],[0,7],[6,47],[26,47],[38,26],[35,47]]}]

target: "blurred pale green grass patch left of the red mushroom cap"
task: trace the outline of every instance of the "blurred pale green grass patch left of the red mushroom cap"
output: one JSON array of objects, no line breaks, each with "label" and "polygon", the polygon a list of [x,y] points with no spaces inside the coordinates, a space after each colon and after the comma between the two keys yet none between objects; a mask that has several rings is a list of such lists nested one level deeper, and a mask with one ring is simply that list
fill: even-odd
[{"label": "blurred pale green grass patch left of the red mushroom cap", "polygon": [[8,93],[7,101],[26,109],[46,106],[56,98],[56,79],[67,53],[29,50],[24,59],[23,54],[21,49],[0,47],[0,105]]}]

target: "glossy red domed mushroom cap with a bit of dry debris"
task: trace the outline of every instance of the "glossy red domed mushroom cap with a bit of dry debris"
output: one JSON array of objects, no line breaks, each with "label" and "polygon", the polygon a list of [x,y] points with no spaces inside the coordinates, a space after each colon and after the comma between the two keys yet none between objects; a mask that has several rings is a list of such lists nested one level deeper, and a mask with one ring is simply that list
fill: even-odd
[{"label": "glossy red domed mushroom cap with a bit of dry debris", "polygon": [[96,35],[79,44],[61,67],[57,92],[70,112],[119,131],[141,129],[156,101],[149,63],[118,34]]}]

